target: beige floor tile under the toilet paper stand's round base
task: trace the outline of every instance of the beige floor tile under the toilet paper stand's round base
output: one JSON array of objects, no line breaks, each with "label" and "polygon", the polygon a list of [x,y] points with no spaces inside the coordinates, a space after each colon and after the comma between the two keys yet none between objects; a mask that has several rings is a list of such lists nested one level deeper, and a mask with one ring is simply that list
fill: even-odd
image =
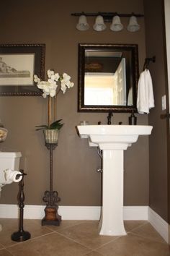
[{"label": "beige floor tile under the toilet paper stand's round base", "polygon": [[[17,244],[18,242],[14,242],[11,239],[12,234],[19,229],[17,219],[1,219],[1,225],[2,231],[0,232],[0,243],[4,245],[4,247]],[[31,238],[52,232],[45,226],[41,226],[39,220],[24,220],[24,231],[30,232]]]}]

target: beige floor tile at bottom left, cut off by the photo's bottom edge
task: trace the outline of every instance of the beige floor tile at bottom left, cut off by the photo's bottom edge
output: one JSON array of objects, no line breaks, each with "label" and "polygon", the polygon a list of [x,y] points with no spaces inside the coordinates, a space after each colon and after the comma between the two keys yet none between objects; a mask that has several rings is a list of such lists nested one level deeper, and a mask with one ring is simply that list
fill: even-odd
[{"label": "beige floor tile at bottom left, cut off by the photo's bottom edge", "polygon": [[81,256],[89,249],[55,232],[9,247],[14,256]]}]

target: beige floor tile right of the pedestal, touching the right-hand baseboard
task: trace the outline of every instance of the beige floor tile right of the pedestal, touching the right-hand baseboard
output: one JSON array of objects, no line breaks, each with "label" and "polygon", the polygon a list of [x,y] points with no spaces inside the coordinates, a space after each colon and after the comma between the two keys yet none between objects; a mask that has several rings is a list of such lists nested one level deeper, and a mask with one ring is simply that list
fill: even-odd
[{"label": "beige floor tile right of the pedestal, touching the right-hand baseboard", "polygon": [[133,229],[131,232],[144,238],[165,243],[164,239],[161,237],[160,234],[158,234],[158,232],[153,228],[153,226],[151,226],[150,223],[146,223],[146,225],[139,226],[138,228]]}]

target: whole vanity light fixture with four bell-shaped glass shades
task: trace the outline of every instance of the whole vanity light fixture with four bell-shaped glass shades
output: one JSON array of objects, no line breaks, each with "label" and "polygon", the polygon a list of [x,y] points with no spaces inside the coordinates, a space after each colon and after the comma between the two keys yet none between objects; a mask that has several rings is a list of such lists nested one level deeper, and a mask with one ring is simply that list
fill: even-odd
[{"label": "whole vanity light fixture with four bell-shaped glass shades", "polygon": [[96,17],[95,23],[93,25],[94,30],[103,31],[106,29],[106,25],[104,22],[111,22],[112,24],[109,26],[112,31],[121,31],[123,29],[123,25],[120,21],[120,17],[130,17],[130,21],[127,27],[127,30],[130,32],[136,32],[140,30],[140,25],[138,24],[137,17],[143,17],[143,14],[118,14],[117,12],[96,12],[96,13],[72,13],[72,16],[79,17],[79,22],[76,25],[76,28],[81,31],[85,31],[89,29],[89,24],[86,21],[86,17]]}]

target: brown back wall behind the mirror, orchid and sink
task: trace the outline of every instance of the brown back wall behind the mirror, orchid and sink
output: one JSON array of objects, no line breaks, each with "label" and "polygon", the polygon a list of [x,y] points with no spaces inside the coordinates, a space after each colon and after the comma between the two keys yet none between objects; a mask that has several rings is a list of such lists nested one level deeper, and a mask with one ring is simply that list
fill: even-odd
[{"label": "brown back wall behind the mirror, orchid and sink", "polygon": [[[107,123],[107,114],[77,112],[78,43],[137,43],[140,71],[146,56],[144,20],[141,30],[129,33],[126,29],[112,33],[109,28],[97,33],[76,30],[77,18],[72,12],[143,13],[142,0],[106,1],[12,1],[1,3],[0,43],[45,43],[45,70],[71,74],[75,86],[66,95],[58,95],[57,115],[63,119],[58,148],[54,150],[54,189],[58,190],[61,205],[100,205],[100,159],[87,140],[81,140],[75,126],[86,120],[90,124]],[[92,25],[94,19],[89,19]],[[122,18],[125,27],[128,19]],[[109,25],[109,24],[108,24]],[[47,102],[42,97],[1,97],[0,117],[9,135],[3,150],[22,152],[21,167],[25,178],[25,203],[42,205],[42,195],[48,189],[49,152],[44,146],[42,132],[35,125],[47,121]],[[115,114],[114,123],[128,124],[129,114]],[[138,124],[148,124],[148,116],[138,115]],[[4,187],[1,203],[16,203],[17,184]],[[148,205],[148,137],[125,151],[125,205]]]}]

